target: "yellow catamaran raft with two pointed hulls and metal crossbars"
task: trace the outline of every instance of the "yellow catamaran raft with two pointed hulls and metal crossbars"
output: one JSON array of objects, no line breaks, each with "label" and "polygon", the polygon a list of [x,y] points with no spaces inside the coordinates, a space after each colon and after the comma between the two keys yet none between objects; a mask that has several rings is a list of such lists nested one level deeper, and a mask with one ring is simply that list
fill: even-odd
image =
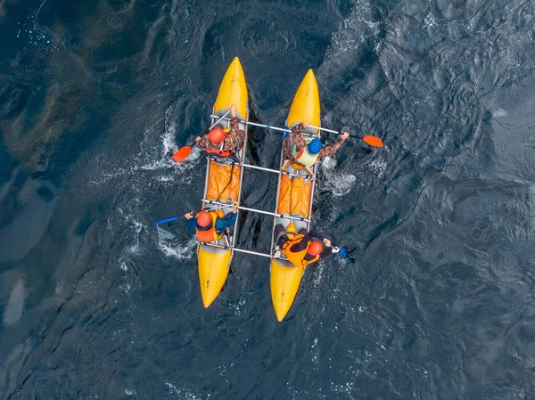
[{"label": "yellow catamaran raft with two pointed hulls and metal crossbars", "polygon": [[[238,70],[239,73],[236,74],[236,70]],[[235,78],[230,78],[233,76],[232,74],[236,74]],[[243,84],[240,83],[240,78],[243,80]],[[235,84],[235,82],[238,82],[238,84],[229,87],[229,80],[232,84]],[[236,95],[235,92],[239,92],[240,95]],[[238,99],[243,100],[245,105],[238,106]],[[212,123],[221,118],[221,116],[225,116],[229,107],[228,104],[234,103],[238,107],[239,118],[245,115],[245,119],[241,122],[240,128],[246,129],[247,126],[255,126],[268,127],[281,131],[288,130],[250,122],[248,120],[249,113],[246,111],[246,102],[247,93],[245,90],[243,70],[236,58],[226,72],[226,76],[219,89],[218,100],[214,106],[214,113],[211,116]],[[308,122],[312,126],[319,127],[319,114],[319,92],[317,90],[317,82],[314,77],[314,72],[310,69],[293,98],[290,113],[286,119],[286,125],[288,127],[293,127],[302,122]],[[221,120],[226,121],[226,124],[228,124],[230,119],[223,117]],[[317,129],[312,127],[309,127],[309,129],[305,131],[305,135],[319,137]],[[209,159],[204,198],[202,200],[205,208],[221,208],[225,214],[232,212],[232,202],[236,199],[238,201],[240,200],[243,167],[251,167],[279,175],[276,194],[276,210],[275,212],[269,212],[242,206],[240,206],[239,209],[273,216],[274,229],[276,224],[283,224],[285,228],[288,228],[288,225],[292,223],[291,226],[297,231],[301,228],[307,228],[308,230],[310,227],[310,215],[312,212],[312,199],[314,197],[317,167],[313,167],[312,176],[309,176],[304,169],[295,169],[292,166],[283,168],[284,159],[282,151],[278,170],[245,164],[245,147],[238,155],[239,159],[241,159],[239,163],[235,163],[232,160],[226,160],[224,163],[221,163]],[[229,179],[231,174],[234,174],[234,176],[232,179]],[[221,192],[224,192],[224,195],[220,195]],[[233,252],[239,251],[257,256],[269,257],[271,259],[271,297],[276,317],[279,321],[282,321],[284,315],[290,310],[293,299],[297,294],[304,268],[293,266],[284,256],[275,257],[275,239],[276,238],[273,237],[272,233],[270,254],[236,248],[234,232],[228,235],[228,237],[221,238],[216,242],[201,243],[199,245],[198,257],[199,278],[201,280],[202,301],[204,306],[210,306],[210,303],[218,296],[219,291],[226,281]]]}]

